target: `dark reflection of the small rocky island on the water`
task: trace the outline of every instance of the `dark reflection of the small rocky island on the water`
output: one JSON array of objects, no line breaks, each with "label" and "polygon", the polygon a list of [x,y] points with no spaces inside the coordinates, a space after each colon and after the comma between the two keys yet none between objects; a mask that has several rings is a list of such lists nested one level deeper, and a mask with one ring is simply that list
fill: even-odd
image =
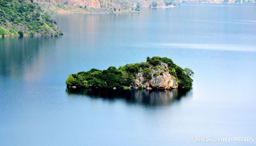
[{"label": "dark reflection of the small rocky island on the water", "polygon": [[105,98],[108,100],[124,99],[128,103],[143,104],[149,106],[169,105],[173,102],[179,102],[181,98],[192,93],[192,90],[99,90],[99,89],[81,89],[73,91],[66,89],[71,98],[77,95],[84,95],[85,98]]}]

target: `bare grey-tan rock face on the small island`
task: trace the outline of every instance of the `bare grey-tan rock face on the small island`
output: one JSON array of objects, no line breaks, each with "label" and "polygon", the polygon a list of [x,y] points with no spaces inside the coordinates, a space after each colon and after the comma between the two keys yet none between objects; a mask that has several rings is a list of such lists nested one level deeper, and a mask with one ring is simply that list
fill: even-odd
[{"label": "bare grey-tan rock face on the small island", "polygon": [[141,72],[137,74],[135,82],[130,85],[132,88],[153,88],[153,89],[177,89],[177,80],[169,73],[169,69],[166,63],[161,63],[157,67],[150,66],[152,79],[147,80]]}]

